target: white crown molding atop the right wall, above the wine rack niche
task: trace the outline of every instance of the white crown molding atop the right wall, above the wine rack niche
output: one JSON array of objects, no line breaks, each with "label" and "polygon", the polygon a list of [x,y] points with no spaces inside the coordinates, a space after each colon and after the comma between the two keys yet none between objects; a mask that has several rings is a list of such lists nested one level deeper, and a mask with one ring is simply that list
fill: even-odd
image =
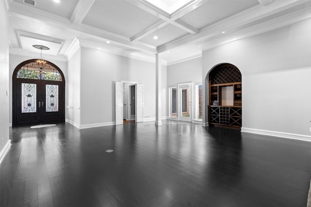
[{"label": "white crown molding atop the right wall, above the wine rack niche", "polygon": [[304,21],[311,18],[311,7],[307,7],[304,10],[300,10],[289,15],[280,16],[273,20],[263,22],[261,24],[249,27],[247,29],[241,30],[239,32],[232,33],[228,36],[218,38],[207,43],[201,44],[199,47],[202,50],[207,50],[215,48],[230,42],[245,39],[251,36],[255,36],[261,33],[276,30],[278,28],[286,27],[288,25]]}]

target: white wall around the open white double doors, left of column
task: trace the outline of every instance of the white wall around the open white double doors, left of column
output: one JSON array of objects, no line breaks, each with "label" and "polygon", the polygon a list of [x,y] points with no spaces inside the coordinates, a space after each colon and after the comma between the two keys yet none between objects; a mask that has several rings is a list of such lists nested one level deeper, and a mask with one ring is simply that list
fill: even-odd
[{"label": "white wall around the open white double doors, left of column", "polygon": [[[166,73],[166,66],[162,65],[162,68]],[[165,78],[165,75],[162,77]],[[144,116],[155,118],[154,63],[81,48],[82,126],[110,125],[115,122],[115,81],[121,80],[144,84]],[[166,80],[163,90],[166,89],[165,83]],[[166,106],[166,102],[163,105]]]}]

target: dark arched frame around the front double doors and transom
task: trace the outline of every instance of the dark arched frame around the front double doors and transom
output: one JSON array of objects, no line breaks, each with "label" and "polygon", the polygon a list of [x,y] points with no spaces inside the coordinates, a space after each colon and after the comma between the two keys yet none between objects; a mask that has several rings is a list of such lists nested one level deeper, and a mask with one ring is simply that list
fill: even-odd
[{"label": "dark arched frame around the front double doors and transom", "polygon": [[[21,69],[22,66],[29,63],[36,62],[37,59],[30,59],[27,61],[24,61],[16,66],[14,69],[13,75],[12,75],[12,127],[17,126],[17,83],[20,82],[20,80],[23,80],[21,78],[17,78],[17,73],[19,69]],[[59,72],[60,76],[62,77],[62,81],[59,81],[62,85],[62,101],[58,103],[59,106],[62,107],[62,122],[65,122],[65,97],[66,97],[66,90],[65,90],[65,76],[63,71],[55,64],[51,63],[50,61],[45,60],[47,64],[50,64],[51,66],[55,67],[55,69]],[[18,81],[19,80],[19,81]],[[24,79],[24,80],[35,80],[35,79]],[[48,80],[47,80],[48,81]]]}]

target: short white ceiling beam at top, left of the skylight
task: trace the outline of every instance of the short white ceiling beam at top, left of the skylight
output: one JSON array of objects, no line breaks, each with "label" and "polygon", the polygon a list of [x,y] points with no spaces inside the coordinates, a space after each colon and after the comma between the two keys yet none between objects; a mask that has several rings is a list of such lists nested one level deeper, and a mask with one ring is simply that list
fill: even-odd
[{"label": "short white ceiling beam at top, left of the skylight", "polygon": [[76,25],[80,24],[86,17],[94,2],[95,0],[79,0],[76,8],[74,9],[70,17],[70,22]]}]

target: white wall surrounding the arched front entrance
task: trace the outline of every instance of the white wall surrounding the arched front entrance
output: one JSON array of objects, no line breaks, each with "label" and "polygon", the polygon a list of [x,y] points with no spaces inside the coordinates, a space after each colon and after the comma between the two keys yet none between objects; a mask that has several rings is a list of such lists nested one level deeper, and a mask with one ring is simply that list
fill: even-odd
[{"label": "white wall surrounding the arched front entrance", "polygon": [[[62,62],[62,61],[54,61],[51,60],[49,58],[45,58],[44,55],[43,59],[50,61],[51,63],[57,65],[61,71],[63,72],[64,76],[65,76],[65,81],[67,81],[67,62]],[[39,56],[38,56],[39,57]],[[18,64],[30,60],[30,59],[35,59],[36,57],[29,57],[29,56],[23,56],[23,55],[14,55],[14,54],[10,54],[10,64],[9,64],[9,68],[10,68],[10,72],[9,72],[9,84],[10,84],[10,124],[12,124],[12,82],[13,82],[13,72],[15,70],[15,68],[17,67]],[[65,84],[67,84],[67,82],[65,82]],[[65,90],[67,91],[67,88],[65,86]],[[65,91],[65,106],[67,104],[67,93]],[[66,110],[66,107],[65,107]],[[66,114],[65,114],[65,118],[66,118]]]}]

